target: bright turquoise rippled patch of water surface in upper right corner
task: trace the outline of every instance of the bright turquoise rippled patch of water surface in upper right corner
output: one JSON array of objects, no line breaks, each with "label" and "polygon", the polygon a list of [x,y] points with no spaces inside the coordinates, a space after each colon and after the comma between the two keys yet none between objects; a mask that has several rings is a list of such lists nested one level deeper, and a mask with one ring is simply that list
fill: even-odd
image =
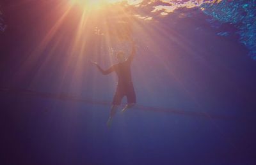
[{"label": "bright turquoise rippled patch of water surface in upper right corner", "polygon": [[249,55],[256,59],[256,1],[221,1],[220,3],[202,4],[204,13],[221,24],[232,24],[237,28],[239,41],[249,50]]}]

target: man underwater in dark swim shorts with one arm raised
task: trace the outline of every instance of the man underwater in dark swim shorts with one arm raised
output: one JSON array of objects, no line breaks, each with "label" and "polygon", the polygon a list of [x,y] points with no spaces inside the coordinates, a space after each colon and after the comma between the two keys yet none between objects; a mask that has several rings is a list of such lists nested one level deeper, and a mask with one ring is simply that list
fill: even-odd
[{"label": "man underwater in dark swim shorts with one arm raised", "polygon": [[111,122],[116,113],[116,110],[118,106],[121,104],[122,98],[124,96],[127,97],[127,104],[123,108],[122,112],[126,111],[128,108],[131,108],[132,106],[134,106],[134,104],[136,104],[136,94],[134,92],[132,76],[131,76],[131,62],[133,61],[134,55],[136,54],[136,48],[135,48],[134,41],[131,41],[131,43],[132,43],[131,55],[127,59],[125,59],[124,52],[118,52],[116,54],[116,59],[118,63],[113,64],[109,69],[106,69],[105,71],[102,68],[100,68],[97,62],[92,61],[92,63],[95,64],[95,66],[97,66],[97,68],[103,75],[108,75],[109,73],[112,73],[113,71],[115,71],[118,77],[115,96],[113,97],[110,116],[107,123],[108,127],[111,126]]}]

